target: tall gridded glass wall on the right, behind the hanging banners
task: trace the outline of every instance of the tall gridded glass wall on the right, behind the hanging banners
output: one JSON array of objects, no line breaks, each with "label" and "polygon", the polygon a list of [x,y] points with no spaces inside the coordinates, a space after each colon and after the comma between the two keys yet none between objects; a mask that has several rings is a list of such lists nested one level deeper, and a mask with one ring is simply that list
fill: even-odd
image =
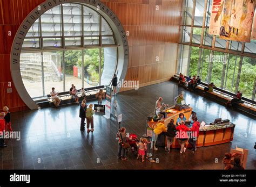
[{"label": "tall gridded glass wall on the right, behind the hanging banners", "polygon": [[184,0],[177,73],[255,100],[256,40],[243,44],[208,34],[211,9],[212,0]]}]

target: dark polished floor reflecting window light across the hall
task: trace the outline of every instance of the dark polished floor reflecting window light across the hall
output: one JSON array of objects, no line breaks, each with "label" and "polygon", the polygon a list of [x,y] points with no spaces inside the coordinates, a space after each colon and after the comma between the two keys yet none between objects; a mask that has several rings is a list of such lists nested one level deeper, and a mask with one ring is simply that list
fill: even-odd
[{"label": "dark polished floor reflecting window light across the hall", "polygon": [[[122,126],[139,137],[145,134],[146,117],[154,109],[159,96],[164,103],[173,99],[183,88],[164,82],[119,93],[116,96],[118,114],[123,114]],[[79,131],[79,106],[76,104],[47,108],[41,111],[11,113],[12,128],[21,131],[21,140],[6,140],[7,148],[0,148],[1,169],[223,169],[221,160],[231,148],[249,149],[247,168],[256,169],[255,118],[245,116],[186,91],[186,103],[197,112],[199,121],[206,123],[215,118],[230,119],[235,126],[234,140],[217,146],[201,147],[195,154],[178,149],[171,153],[159,148],[159,163],[142,163],[129,153],[127,161],[117,159],[118,142],[115,139],[118,125],[95,114],[95,132]],[[92,103],[96,103],[95,101]]]}]

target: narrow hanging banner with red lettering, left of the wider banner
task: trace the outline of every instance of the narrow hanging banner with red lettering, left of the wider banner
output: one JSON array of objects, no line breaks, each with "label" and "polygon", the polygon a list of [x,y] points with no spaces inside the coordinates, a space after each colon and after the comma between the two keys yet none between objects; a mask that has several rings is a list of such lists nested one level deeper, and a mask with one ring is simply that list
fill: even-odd
[{"label": "narrow hanging banner with red lettering, left of the wider banner", "polygon": [[220,20],[221,20],[221,13],[223,11],[223,1],[224,0],[213,0],[212,2],[209,34],[213,34],[213,35],[220,34]]}]

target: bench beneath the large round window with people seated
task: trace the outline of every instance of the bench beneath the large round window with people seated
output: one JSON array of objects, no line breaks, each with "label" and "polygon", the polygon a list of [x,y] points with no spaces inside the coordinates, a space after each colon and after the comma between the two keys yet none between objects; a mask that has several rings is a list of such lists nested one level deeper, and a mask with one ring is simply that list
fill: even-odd
[{"label": "bench beneath the large round window with people seated", "polygon": [[[86,100],[96,99],[98,97],[98,92],[99,92],[100,89],[103,90],[103,98],[105,98],[106,90],[105,90],[104,85],[97,86],[97,87],[85,88],[84,89],[85,90],[85,95],[83,95],[83,93],[81,93],[81,90],[77,90],[77,96],[78,96],[80,101],[83,100],[84,97],[86,97]],[[51,106],[54,101],[51,98],[51,95],[47,95],[47,97],[48,97],[47,100],[48,100],[48,102]],[[75,99],[72,98],[69,91],[59,92],[58,98],[61,101],[60,104],[68,104],[68,103],[75,102]]]}]

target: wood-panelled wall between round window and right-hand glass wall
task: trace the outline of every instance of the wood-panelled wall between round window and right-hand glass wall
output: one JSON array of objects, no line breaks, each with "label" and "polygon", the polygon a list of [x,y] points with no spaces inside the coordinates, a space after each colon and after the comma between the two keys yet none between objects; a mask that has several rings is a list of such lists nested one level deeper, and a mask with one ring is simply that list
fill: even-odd
[{"label": "wood-panelled wall between round window and right-hand glass wall", "polygon": [[[138,80],[140,87],[169,80],[176,73],[183,1],[102,2],[110,6],[129,31],[130,60],[125,80]],[[120,91],[125,90],[129,89]]]}]

